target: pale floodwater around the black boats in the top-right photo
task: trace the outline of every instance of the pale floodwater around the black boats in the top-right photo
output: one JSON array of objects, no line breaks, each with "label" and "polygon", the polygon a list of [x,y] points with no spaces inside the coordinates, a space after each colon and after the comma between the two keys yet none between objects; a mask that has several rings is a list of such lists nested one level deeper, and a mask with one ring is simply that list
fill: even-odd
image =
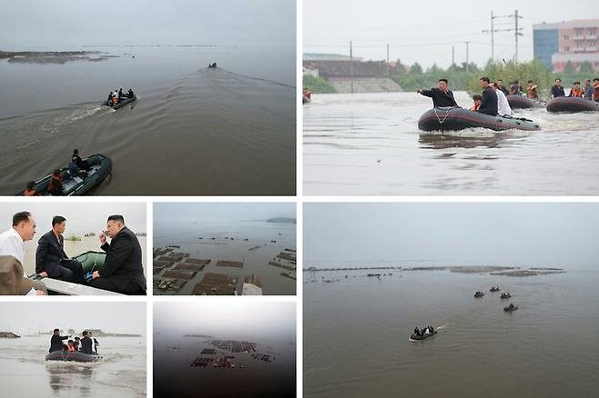
[{"label": "pale floodwater around the black boats in the top-right photo", "polygon": [[[472,100],[455,93],[462,107]],[[310,195],[589,195],[599,192],[599,113],[518,110],[538,132],[425,134],[430,98],[314,95],[303,106]]]}]

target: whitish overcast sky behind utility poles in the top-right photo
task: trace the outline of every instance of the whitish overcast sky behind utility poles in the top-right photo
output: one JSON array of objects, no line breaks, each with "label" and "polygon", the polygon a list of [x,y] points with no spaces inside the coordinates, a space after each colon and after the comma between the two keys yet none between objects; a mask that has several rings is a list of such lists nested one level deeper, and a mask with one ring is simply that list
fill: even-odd
[{"label": "whitish overcast sky behind utility poles in the top-right photo", "polygon": [[[482,30],[491,28],[491,11],[495,15],[513,15],[518,9],[523,15],[519,60],[533,57],[533,24],[599,18],[596,2],[592,0],[409,3],[304,0],[303,9],[304,52],[349,55],[350,40],[353,40],[355,56],[381,60],[385,59],[386,45],[390,44],[392,60],[400,58],[403,64],[419,62],[427,67],[434,62],[443,67],[452,65],[452,44],[456,64],[464,62],[466,45],[463,42],[467,40],[472,41],[471,60],[478,65],[486,63],[491,57],[491,36],[482,34]],[[513,28],[513,18],[496,19],[495,23],[495,29]],[[430,45],[439,43],[443,45]],[[513,32],[496,33],[495,57],[507,60],[513,53]]]}]

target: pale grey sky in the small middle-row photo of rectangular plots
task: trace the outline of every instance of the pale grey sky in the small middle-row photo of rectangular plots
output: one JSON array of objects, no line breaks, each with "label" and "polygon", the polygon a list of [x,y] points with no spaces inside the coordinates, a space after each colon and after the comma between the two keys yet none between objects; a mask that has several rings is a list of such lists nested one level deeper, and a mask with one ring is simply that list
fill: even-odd
[{"label": "pale grey sky in the small middle-row photo of rectangular plots", "polygon": [[274,217],[295,218],[292,203],[155,203],[156,223],[176,223],[177,220],[247,221]]}]

